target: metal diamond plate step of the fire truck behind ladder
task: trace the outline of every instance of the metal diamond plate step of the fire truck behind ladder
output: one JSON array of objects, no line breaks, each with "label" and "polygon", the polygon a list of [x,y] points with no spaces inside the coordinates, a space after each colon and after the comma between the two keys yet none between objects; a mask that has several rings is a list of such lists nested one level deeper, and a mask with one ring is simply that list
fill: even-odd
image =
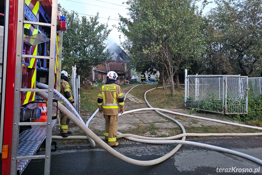
[{"label": "metal diamond plate step of the fire truck behind ladder", "polygon": [[[56,120],[52,121],[52,128]],[[19,134],[18,156],[33,156],[46,138],[46,125],[32,126]],[[31,159],[17,160],[17,171],[20,175],[25,170]]]}]

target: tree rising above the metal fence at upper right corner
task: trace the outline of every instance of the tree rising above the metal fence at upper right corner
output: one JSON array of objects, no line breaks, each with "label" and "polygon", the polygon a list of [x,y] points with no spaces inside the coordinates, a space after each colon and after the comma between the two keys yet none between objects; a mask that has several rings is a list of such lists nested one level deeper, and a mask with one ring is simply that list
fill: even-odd
[{"label": "tree rising above the metal fence at upper right corner", "polygon": [[[220,55],[222,68],[232,69],[236,74],[256,76],[261,74],[261,19],[262,1],[220,0],[208,15],[210,36],[210,59]],[[237,66],[237,67],[236,67]]]}]

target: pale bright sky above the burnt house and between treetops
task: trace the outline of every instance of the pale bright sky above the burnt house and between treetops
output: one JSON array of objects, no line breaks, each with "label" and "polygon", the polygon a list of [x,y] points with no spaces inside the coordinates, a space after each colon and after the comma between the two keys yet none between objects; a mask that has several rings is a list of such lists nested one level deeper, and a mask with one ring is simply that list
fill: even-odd
[{"label": "pale bright sky above the burnt house and between treetops", "polygon": [[[120,44],[120,42],[124,40],[123,34],[118,32],[117,29],[113,27],[113,25],[118,26],[118,23],[120,22],[119,14],[123,17],[128,17],[128,10],[126,9],[128,6],[126,4],[122,4],[122,2],[124,2],[124,0],[58,0],[58,3],[60,3],[64,9],[69,12],[74,10],[79,13],[79,16],[96,16],[98,12],[100,23],[107,23],[108,17],[110,17],[108,21],[108,28],[112,29],[112,31],[110,32],[108,39],[105,41],[107,47],[110,47],[114,43]],[[208,2],[210,1],[208,0]],[[197,5],[200,7],[201,3],[202,2],[200,1]],[[216,5],[212,2],[205,7],[203,12],[206,13],[211,8],[215,7]],[[121,35],[121,40],[119,39],[119,35]]]}]

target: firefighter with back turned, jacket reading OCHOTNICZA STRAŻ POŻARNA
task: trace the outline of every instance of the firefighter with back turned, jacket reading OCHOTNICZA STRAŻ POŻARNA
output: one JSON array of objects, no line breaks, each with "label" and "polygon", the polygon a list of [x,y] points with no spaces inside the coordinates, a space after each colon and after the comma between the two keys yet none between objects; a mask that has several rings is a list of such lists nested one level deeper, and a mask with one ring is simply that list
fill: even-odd
[{"label": "firefighter with back turned, jacket reading OCHOTNICZA STRA\u017b PO\u017bARNA", "polygon": [[101,86],[97,98],[99,112],[103,112],[106,121],[105,138],[111,147],[119,145],[117,142],[118,103],[121,114],[124,112],[124,95],[120,86],[115,84],[117,77],[114,71],[107,73],[107,81]]}]

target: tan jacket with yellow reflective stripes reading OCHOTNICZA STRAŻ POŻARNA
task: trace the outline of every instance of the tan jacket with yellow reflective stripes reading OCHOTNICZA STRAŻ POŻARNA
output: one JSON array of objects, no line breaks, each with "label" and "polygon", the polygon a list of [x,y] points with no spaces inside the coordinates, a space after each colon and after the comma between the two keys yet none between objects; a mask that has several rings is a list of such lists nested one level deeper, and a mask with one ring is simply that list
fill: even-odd
[{"label": "tan jacket with yellow reflective stripes reading OCHOTNICZA STRA\u017b PO\u017bARNA", "polygon": [[98,93],[97,104],[105,115],[117,115],[118,103],[120,110],[124,110],[124,95],[117,84],[102,85]]}]

